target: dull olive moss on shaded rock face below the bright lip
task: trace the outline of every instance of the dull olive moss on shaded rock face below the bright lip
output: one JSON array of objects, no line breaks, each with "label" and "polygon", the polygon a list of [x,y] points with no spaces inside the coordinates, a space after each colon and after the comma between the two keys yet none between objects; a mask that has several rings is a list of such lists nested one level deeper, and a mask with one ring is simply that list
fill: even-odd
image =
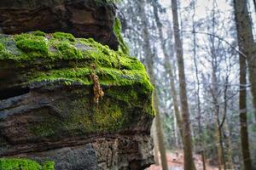
[{"label": "dull olive moss on shaded rock face below the bright lip", "polygon": [[[90,88],[80,89],[75,92],[78,93],[75,99],[56,101],[55,107],[61,111],[61,119],[44,115],[44,119],[48,121],[30,126],[30,131],[36,136],[49,139],[61,139],[67,133],[73,136],[116,133],[130,127],[142,115],[152,117],[154,112],[150,107],[151,98],[148,98],[148,94],[140,93],[136,89],[129,90],[130,88],[104,88],[105,96],[97,105],[92,100]],[[137,89],[139,88],[138,86]],[[119,95],[117,90],[122,94]]]}]

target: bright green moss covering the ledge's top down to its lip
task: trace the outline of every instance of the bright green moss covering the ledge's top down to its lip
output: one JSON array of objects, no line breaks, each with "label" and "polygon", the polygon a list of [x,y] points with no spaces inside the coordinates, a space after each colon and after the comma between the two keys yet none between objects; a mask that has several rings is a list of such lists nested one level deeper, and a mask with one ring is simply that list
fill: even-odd
[{"label": "bright green moss covering the ledge's top down to its lip", "polygon": [[91,65],[95,65],[102,84],[125,86],[137,82],[144,85],[143,91],[153,89],[144,66],[136,58],[113,51],[93,39],[74,38],[63,32],[46,35],[36,31],[0,37],[0,64],[3,69],[24,69],[26,74],[20,72],[20,77],[30,74],[27,68],[32,69],[35,74],[26,77],[27,82],[64,80],[84,84],[91,84],[88,76]]}]

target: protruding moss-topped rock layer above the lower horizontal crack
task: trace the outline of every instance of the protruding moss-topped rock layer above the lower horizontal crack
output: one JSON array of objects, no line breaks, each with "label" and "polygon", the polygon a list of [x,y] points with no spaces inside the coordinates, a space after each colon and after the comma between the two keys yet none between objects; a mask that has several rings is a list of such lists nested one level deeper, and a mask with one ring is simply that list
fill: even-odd
[{"label": "protruding moss-topped rock layer above the lower horizontal crack", "polygon": [[[149,133],[153,87],[136,58],[62,32],[3,35],[0,44],[0,94],[9,93],[0,122],[15,118],[16,130],[0,128],[11,144]],[[98,103],[91,75],[104,92]]]}]

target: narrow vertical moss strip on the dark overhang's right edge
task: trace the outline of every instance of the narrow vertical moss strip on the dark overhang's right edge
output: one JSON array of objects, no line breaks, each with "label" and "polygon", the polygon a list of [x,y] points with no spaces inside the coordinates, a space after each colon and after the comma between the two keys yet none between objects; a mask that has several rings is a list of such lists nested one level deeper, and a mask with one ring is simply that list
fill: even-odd
[{"label": "narrow vertical moss strip on the dark overhang's right edge", "polygon": [[127,47],[124,41],[124,38],[121,35],[121,31],[122,31],[121,22],[118,18],[115,18],[113,23],[113,32],[119,40],[119,51],[124,54],[129,54],[130,53],[129,48]]}]

